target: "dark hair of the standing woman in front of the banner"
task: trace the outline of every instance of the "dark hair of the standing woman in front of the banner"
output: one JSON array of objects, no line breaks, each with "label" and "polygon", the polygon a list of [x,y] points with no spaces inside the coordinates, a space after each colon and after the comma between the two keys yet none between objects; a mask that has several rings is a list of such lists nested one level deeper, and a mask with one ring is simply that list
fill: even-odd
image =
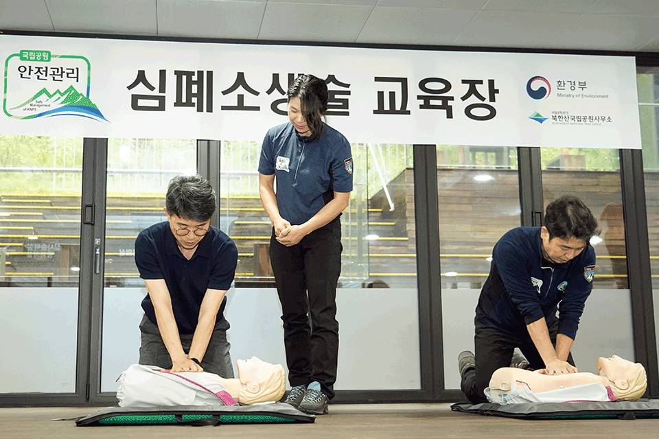
[{"label": "dark hair of the standing woman in front of the banner", "polygon": [[314,75],[300,75],[288,87],[288,100],[291,97],[299,97],[307,125],[311,128],[310,141],[321,137],[323,132],[323,119],[321,116],[327,112],[327,99],[329,92],[327,84],[321,78]]}]

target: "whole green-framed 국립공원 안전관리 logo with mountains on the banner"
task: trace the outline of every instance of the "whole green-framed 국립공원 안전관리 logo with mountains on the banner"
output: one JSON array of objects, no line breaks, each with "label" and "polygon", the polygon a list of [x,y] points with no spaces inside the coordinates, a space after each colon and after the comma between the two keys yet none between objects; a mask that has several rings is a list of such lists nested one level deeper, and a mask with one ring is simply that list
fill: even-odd
[{"label": "whole green-framed \uad6d\ub9bd\uacf5\uc6d0 \uc548\uc804\uad00\ub9ac logo with mountains on the banner", "polygon": [[5,60],[3,111],[13,119],[74,116],[108,121],[89,98],[84,56],[21,50]]}]

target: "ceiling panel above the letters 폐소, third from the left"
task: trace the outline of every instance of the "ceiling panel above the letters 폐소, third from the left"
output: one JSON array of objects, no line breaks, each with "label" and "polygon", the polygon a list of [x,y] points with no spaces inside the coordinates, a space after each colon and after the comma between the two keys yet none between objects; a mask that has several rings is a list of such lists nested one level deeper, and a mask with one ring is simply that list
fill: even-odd
[{"label": "ceiling panel above the letters \ud3d0\uc18c, third from the left", "polygon": [[262,1],[159,0],[158,34],[255,40],[265,8]]}]

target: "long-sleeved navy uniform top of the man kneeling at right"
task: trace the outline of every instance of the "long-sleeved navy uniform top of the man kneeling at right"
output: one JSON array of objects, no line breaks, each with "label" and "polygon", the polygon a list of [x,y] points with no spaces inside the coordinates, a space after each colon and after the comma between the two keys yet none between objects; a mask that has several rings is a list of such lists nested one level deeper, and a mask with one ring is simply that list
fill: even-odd
[{"label": "long-sleeved navy uniform top of the man kneeling at right", "polygon": [[574,340],[592,289],[595,251],[587,245],[574,259],[553,263],[542,257],[541,242],[540,227],[513,228],[499,239],[476,318],[519,337],[543,317],[551,326],[558,311],[558,332]]}]

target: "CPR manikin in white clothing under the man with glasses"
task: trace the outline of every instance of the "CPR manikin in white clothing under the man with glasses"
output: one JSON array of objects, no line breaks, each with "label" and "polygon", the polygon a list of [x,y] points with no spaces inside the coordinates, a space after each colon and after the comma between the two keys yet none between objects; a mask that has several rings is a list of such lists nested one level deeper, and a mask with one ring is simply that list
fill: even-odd
[{"label": "CPR manikin in white clothing under the man with glasses", "polygon": [[238,378],[227,379],[209,372],[172,373],[133,364],[119,377],[119,406],[250,405],[284,396],[286,374],[281,364],[251,357],[239,359],[236,366]]}]

